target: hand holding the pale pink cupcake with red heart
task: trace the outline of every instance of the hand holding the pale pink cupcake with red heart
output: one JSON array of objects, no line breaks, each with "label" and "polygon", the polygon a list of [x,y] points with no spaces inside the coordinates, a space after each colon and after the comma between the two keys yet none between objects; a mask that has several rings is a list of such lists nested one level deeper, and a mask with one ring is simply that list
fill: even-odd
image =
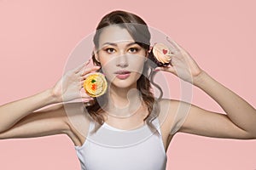
[{"label": "hand holding the pale pink cupcake with red heart", "polygon": [[154,71],[172,72],[172,74],[180,77],[186,82],[195,82],[195,79],[201,75],[201,68],[196,64],[190,54],[178,45],[177,42],[168,39],[168,37],[167,40],[172,45],[172,47],[168,45],[173,54],[171,65],[166,67],[156,67]]}]

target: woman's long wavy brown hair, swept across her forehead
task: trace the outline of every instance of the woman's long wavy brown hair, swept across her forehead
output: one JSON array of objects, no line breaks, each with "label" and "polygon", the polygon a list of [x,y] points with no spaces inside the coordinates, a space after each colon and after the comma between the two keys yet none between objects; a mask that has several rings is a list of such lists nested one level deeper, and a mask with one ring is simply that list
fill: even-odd
[{"label": "woman's long wavy brown hair, swept across her forehead", "polygon": [[[99,48],[99,37],[101,36],[102,28],[113,25],[125,28],[138,45],[140,45],[146,51],[149,50],[151,35],[145,21],[136,14],[131,14],[130,12],[121,10],[116,10],[106,14],[96,27],[96,34],[93,37],[93,42],[96,49]],[[94,65],[101,66],[101,63],[96,60],[94,52],[92,53],[92,59]],[[102,70],[100,69],[99,71],[101,72]],[[148,74],[148,71],[151,72]],[[143,104],[147,105],[148,108],[148,116],[146,116],[143,121],[148,123],[151,130],[155,129],[152,121],[159,115],[159,99],[154,98],[154,94],[152,92],[153,89],[150,84],[150,82],[153,82],[153,72],[154,71],[152,71],[150,68],[147,60],[143,65],[143,74],[137,80],[137,90],[140,92],[140,96],[143,99]],[[153,84],[155,85],[154,82]],[[156,86],[156,88],[160,89],[159,86]],[[161,97],[161,89],[160,93]],[[89,112],[92,119],[98,123],[98,125],[96,125],[95,132],[105,122],[104,116],[101,114],[103,111],[101,105],[105,105],[107,103],[107,95],[103,94],[102,96],[95,98],[92,105],[84,107],[84,109]]]}]

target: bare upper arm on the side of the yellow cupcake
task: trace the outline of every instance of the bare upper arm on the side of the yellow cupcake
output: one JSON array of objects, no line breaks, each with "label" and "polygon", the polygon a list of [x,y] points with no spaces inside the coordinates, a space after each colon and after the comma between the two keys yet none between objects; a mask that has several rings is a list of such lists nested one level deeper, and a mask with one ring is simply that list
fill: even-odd
[{"label": "bare upper arm on the side of the yellow cupcake", "polygon": [[67,133],[69,126],[63,105],[52,111],[35,111],[0,133],[0,139],[33,138]]}]

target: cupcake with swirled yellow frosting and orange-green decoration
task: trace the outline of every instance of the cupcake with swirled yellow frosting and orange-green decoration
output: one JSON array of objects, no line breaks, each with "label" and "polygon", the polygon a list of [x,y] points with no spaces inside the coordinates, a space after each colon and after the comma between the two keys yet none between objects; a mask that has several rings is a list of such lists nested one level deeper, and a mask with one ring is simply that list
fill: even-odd
[{"label": "cupcake with swirled yellow frosting and orange-green decoration", "polygon": [[106,93],[108,82],[105,76],[100,72],[88,74],[84,80],[84,90],[90,97],[99,97]]}]

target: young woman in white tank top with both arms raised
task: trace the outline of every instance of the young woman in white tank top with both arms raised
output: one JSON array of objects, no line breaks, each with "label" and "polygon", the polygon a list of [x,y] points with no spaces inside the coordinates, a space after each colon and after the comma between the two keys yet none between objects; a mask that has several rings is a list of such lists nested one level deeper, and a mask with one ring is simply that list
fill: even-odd
[{"label": "young woman in white tank top with both arms raised", "polygon": [[[67,71],[53,88],[1,105],[0,139],[65,133],[73,140],[81,168],[90,170],[165,169],[166,150],[177,132],[256,139],[253,106],[210,77],[177,42],[169,42],[171,65],[148,73],[151,48],[146,23],[125,11],[105,15],[94,37],[91,60],[95,66],[90,67],[89,60]],[[91,98],[80,90],[95,71],[105,75],[108,89]],[[201,88],[226,115],[184,101],[156,99],[150,84],[155,71],[170,72]],[[81,98],[83,102],[68,103]]]}]

